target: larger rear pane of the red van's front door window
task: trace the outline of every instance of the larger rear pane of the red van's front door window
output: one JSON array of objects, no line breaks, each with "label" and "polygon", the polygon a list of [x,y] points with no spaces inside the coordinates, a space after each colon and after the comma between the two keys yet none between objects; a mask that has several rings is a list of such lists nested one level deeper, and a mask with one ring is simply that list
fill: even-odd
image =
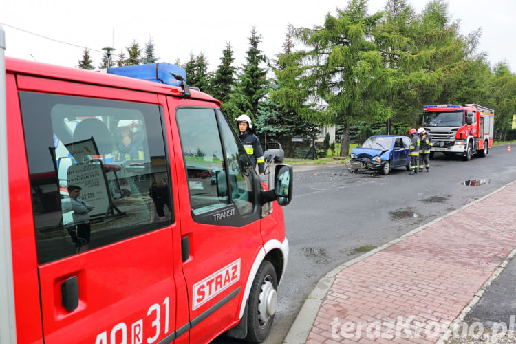
[{"label": "larger rear pane of the red van's front door window", "polygon": [[224,155],[213,109],[180,108],[176,120],[195,215],[228,204]]}]

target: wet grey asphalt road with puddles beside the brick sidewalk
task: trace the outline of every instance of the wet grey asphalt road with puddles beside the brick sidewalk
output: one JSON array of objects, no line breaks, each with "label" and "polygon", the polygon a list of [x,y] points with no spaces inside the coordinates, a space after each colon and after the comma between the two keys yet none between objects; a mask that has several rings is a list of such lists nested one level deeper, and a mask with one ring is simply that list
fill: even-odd
[{"label": "wet grey asphalt road with puddles beside the brick sidewalk", "polygon": [[[436,153],[431,171],[356,174],[343,164],[294,166],[294,197],[283,208],[290,243],[278,309],[264,343],[281,343],[317,281],[366,250],[516,180],[516,153],[493,147],[466,162]],[[474,182],[469,182],[473,180]],[[240,343],[219,337],[213,343]]]}]

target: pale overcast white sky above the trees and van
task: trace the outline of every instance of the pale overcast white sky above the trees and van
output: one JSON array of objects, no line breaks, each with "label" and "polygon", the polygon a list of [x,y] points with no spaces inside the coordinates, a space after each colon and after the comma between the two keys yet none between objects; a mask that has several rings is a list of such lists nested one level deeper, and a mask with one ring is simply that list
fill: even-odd
[{"label": "pale overcast white sky above the trees and van", "polygon": [[[385,0],[369,0],[369,13],[382,10]],[[427,0],[408,0],[417,13]],[[449,0],[449,14],[460,21],[460,32],[482,29],[479,51],[487,53],[491,66],[506,61],[516,71],[515,0]],[[230,43],[234,65],[245,63],[248,37],[254,26],[261,35],[259,49],[276,58],[282,50],[288,24],[295,28],[321,25],[325,14],[345,8],[347,0],[197,0],[197,1],[70,1],[3,0],[0,23],[6,32],[6,56],[54,65],[76,67],[84,47],[98,67],[103,47],[115,54],[127,51],[132,41],[140,47],[155,44],[159,61],[186,63],[191,54],[204,53],[208,70],[220,63],[222,50]],[[41,36],[29,34],[10,26]],[[301,47],[300,45],[298,47]]]}]

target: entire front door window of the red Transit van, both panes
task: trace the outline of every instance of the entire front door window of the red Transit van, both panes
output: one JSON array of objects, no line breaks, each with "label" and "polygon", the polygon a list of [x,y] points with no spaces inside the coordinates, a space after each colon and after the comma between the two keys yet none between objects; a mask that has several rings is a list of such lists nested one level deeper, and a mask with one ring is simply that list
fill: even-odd
[{"label": "entire front door window of the red Transit van, both panes", "polygon": [[240,215],[251,213],[252,165],[224,115],[214,109],[180,108],[176,120],[193,214],[228,204],[235,204]]}]

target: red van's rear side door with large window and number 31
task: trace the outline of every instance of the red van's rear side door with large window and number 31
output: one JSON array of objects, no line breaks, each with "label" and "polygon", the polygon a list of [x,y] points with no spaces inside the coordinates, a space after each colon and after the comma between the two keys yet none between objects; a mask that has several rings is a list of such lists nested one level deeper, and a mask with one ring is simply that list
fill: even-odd
[{"label": "red van's rear side door with large window and number 31", "polygon": [[18,82],[45,343],[173,341],[176,186],[157,96]]}]

